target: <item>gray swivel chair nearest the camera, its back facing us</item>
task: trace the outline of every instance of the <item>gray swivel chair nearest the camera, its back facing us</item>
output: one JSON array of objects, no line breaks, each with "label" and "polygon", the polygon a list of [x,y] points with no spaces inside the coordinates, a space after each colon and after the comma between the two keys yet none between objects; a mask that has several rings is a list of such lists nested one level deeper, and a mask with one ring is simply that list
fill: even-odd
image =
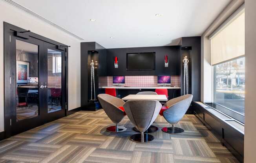
[{"label": "gray swivel chair nearest the camera, its back facing us", "polygon": [[144,133],[154,122],[161,110],[161,103],[156,100],[129,100],[124,104],[124,110],[140,134],[130,137],[137,143],[147,143],[154,140],[154,136]]}]

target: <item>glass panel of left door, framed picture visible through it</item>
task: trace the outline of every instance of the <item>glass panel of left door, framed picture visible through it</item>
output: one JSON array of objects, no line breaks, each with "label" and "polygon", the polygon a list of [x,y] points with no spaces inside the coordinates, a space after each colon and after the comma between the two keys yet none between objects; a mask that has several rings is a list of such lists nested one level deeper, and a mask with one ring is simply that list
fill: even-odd
[{"label": "glass panel of left door, framed picture visible through it", "polygon": [[38,116],[38,45],[16,40],[16,121]]}]

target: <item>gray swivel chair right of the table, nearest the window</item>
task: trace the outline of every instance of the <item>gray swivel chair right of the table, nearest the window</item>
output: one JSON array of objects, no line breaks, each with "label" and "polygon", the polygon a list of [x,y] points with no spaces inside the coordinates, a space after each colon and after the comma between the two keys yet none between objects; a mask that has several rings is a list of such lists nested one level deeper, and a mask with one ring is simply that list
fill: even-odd
[{"label": "gray swivel chair right of the table, nearest the window", "polygon": [[162,129],[163,132],[169,134],[181,134],[184,132],[183,129],[174,127],[174,125],[183,118],[188,110],[192,98],[192,94],[186,94],[177,98],[173,98],[167,101],[165,105],[163,105],[159,114],[172,125],[172,127],[164,127]]}]

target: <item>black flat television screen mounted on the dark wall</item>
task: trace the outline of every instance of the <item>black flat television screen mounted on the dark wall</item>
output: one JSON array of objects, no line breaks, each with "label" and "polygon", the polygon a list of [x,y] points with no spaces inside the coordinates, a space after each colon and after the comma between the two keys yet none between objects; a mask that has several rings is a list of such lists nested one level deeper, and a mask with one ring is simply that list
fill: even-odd
[{"label": "black flat television screen mounted on the dark wall", "polygon": [[155,52],[127,53],[127,70],[155,70]]}]

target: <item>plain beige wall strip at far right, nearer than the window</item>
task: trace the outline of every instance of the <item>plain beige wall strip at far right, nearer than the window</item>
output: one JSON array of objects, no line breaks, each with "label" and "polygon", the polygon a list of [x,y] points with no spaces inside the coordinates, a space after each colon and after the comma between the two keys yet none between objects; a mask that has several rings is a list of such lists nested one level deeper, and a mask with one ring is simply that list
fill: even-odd
[{"label": "plain beige wall strip at far right, nearer than the window", "polygon": [[256,0],[245,0],[245,151],[244,162],[256,160]]}]

